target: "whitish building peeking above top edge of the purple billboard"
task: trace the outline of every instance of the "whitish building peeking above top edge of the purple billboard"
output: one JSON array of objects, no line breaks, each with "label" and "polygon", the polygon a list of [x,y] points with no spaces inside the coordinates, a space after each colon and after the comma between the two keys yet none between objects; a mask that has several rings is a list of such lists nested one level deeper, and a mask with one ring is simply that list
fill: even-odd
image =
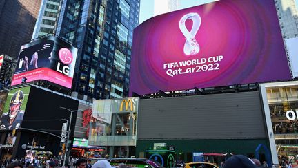
[{"label": "whitish building peeking above top edge of the purple billboard", "polygon": [[155,0],[154,1],[154,16],[161,15],[166,12],[179,10],[180,0]]}]

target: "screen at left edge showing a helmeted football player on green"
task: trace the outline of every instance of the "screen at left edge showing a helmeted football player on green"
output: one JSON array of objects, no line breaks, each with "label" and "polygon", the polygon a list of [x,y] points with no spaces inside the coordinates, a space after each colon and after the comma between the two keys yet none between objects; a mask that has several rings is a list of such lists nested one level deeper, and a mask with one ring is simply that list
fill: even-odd
[{"label": "screen at left edge showing a helmeted football player on green", "polygon": [[0,130],[19,129],[25,115],[30,86],[8,92],[0,120]]}]

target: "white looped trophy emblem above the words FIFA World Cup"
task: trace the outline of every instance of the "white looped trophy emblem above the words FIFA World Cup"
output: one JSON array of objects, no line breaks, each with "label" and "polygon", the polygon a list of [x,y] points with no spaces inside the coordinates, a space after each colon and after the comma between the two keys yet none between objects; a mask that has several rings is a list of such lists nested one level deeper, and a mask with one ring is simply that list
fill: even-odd
[{"label": "white looped trophy emblem above the words FIFA World Cup", "polygon": [[[186,28],[187,19],[192,19],[192,28],[190,32]],[[199,26],[201,26],[201,17],[197,13],[188,13],[181,17],[179,21],[179,28],[184,37],[186,37],[186,43],[184,44],[183,51],[188,56],[199,53],[199,43],[195,39]]]}]

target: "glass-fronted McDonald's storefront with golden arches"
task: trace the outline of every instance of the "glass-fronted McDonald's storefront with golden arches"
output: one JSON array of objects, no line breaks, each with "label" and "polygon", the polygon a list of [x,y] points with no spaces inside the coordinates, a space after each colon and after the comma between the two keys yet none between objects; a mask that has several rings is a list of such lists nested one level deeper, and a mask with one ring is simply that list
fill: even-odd
[{"label": "glass-fronted McDonald's storefront with golden arches", "polygon": [[106,149],[103,158],[135,156],[138,97],[93,101],[88,145]]}]

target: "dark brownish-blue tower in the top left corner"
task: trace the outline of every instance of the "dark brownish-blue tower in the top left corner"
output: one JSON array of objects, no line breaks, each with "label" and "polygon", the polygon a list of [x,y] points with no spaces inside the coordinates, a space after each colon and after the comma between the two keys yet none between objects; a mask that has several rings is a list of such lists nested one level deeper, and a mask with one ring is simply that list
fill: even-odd
[{"label": "dark brownish-blue tower in the top left corner", "polygon": [[17,58],[30,41],[41,0],[0,1],[0,54]]}]

